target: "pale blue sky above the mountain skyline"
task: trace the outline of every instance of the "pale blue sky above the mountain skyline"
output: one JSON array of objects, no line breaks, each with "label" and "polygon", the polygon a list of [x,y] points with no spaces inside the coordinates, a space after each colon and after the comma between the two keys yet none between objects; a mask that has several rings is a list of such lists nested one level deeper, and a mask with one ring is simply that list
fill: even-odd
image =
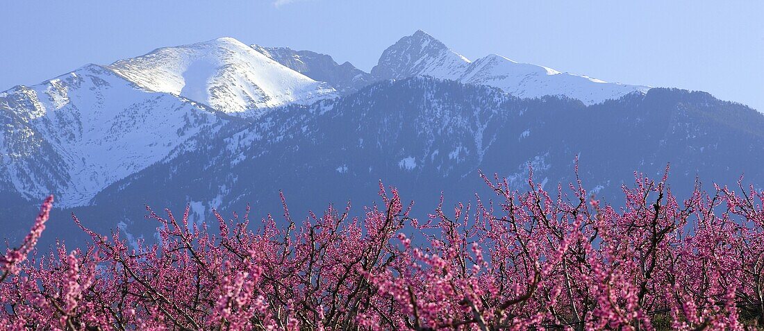
[{"label": "pale blue sky above the mountain skyline", "polygon": [[417,29],[612,82],[711,92],[764,111],[764,2],[138,0],[4,2],[0,91],[154,48],[235,37],[369,70]]}]

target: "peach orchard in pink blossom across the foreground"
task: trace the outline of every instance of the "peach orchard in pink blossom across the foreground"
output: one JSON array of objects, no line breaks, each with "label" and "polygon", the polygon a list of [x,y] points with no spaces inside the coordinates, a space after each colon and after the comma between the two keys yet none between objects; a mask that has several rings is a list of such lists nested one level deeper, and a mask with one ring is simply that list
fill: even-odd
[{"label": "peach orchard in pink blossom across the foreground", "polygon": [[[218,230],[170,210],[157,243],[80,225],[86,249],[34,253],[53,203],[0,258],[2,329],[755,329],[764,326],[764,192],[678,200],[639,175],[625,204],[580,182],[410,217],[395,189],[362,217],[329,207],[285,227]],[[698,185],[699,186],[699,185]],[[569,192],[569,193],[565,193]],[[283,199],[283,198],[282,198]],[[164,213],[163,213],[164,214]],[[73,217],[79,224],[79,220]],[[278,222],[282,223],[282,222]]]}]

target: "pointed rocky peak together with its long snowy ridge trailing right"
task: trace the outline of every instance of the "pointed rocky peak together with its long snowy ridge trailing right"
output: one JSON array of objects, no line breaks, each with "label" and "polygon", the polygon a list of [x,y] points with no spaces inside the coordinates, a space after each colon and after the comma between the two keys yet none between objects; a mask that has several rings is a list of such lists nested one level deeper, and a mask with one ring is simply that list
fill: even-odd
[{"label": "pointed rocky peak together with its long snowy ridge trailing right", "polygon": [[564,95],[584,104],[596,104],[649,90],[648,86],[609,83],[545,66],[516,63],[495,54],[471,62],[424,31],[416,31],[387,48],[371,73],[377,79],[431,76],[489,85],[520,98]]}]

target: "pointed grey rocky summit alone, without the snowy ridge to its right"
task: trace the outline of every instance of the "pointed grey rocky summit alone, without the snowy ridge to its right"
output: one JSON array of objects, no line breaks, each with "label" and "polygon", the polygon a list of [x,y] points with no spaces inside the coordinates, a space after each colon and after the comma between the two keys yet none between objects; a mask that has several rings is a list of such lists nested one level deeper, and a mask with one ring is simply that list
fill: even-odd
[{"label": "pointed grey rocky summit alone, without the snowy ridge to its right", "polygon": [[424,31],[400,38],[387,47],[371,74],[377,79],[402,79],[411,76],[433,76],[458,79],[470,60],[445,46]]}]

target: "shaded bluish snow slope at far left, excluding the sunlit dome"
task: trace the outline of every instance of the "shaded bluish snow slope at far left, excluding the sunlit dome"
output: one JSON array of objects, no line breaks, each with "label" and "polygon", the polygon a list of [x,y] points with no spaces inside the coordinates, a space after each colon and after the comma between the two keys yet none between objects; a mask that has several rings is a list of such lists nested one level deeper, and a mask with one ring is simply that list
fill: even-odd
[{"label": "shaded bluish snow slope at far left, excluding the sunlit dome", "polygon": [[118,179],[168,156],[227,120],[211,108],[136,87],[88,65],[0,93],[0,177],[5,190],[60,206],[87,204]]}]

